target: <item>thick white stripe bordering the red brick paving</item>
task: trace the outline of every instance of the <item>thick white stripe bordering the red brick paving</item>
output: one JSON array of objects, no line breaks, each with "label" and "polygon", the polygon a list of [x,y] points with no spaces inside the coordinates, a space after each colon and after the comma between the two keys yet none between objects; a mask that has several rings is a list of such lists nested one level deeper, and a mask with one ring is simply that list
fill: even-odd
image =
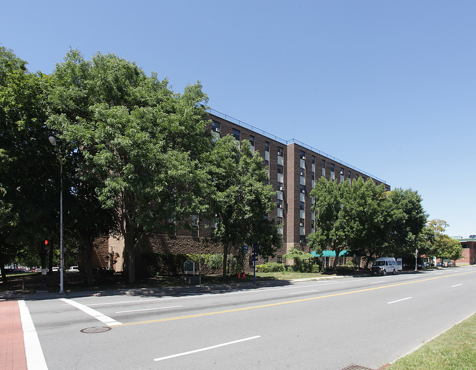
[{"label": "thick white stripe bordering the red brick paving", "polygon": [[35,325],[31,319],[30,311],[24,300],[18,301],[20,309],[20,318],[22,320],[23,341],[25,342],[25,355],[27,359],[27,368],[37,370],[48,370],[45,356],[41,349],[40,339],[36,334]]}]

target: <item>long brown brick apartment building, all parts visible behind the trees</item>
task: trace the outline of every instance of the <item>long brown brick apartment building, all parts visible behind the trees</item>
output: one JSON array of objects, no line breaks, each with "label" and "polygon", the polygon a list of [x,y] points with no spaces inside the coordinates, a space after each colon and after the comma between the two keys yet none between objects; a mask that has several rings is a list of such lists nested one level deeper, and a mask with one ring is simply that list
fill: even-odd
[{"label": "long brown brick apartment building, all parts visible behind the trees", "polygon": [[[322,153],[312,146],[297,140],[283,140],[259,130],[256,127],[223,115],[210,109],[210,130],[215,136],[233,135],[236,140],[249,140],[252,150],[263,157],[264,165],[269,168],[269,181],[276,190],[276,208],[270,217],[276,217],[283,237],[283,247],[276,256],[259,257],[258,264],[264,262],[282,263],[282,255],[292,247],[309,251],[306,236],[314,232],[314,214],[311,212],[313,200],[309,194],[314,183],[321,176],[335,181],[353,181],[359,177],[365,181],[384,183],[377,177],[359,170],[337,158]],[[390,187],[385,184],[387,190]],[[148,239],[148,247],[154,252],[173,253],[221,253],[219,246],[210,242],[210,228],[193,217],[192,231],[182,230],[174,236],[154,235]],[[206,221],[205,221],[206,222]],[[122,270],[123,241],[109,238],[109,252],[119,253],[115,264],[116,271]],[[252,269],[252,262],[247,264]]]}]

